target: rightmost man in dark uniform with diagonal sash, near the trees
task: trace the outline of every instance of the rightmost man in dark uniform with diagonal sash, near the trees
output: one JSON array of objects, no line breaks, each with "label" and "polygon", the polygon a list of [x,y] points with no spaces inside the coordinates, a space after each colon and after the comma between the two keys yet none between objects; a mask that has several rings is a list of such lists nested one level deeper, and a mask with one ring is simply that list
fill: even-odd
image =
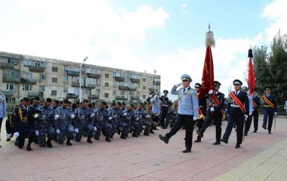
[{"label": "rightmost man in dark uniform with diagonal sash, near the trees", "polygon": [[271,87],[266,86],[265,89],[265,95],[262,96],[263,101],[263,125],[262,127],[266,129],[267,125],[267,118],[268,118],[268,133],[271,134],[271,128],[273,123],[273,117],[277,116],[277,102],[275,95],[271,94]]}]

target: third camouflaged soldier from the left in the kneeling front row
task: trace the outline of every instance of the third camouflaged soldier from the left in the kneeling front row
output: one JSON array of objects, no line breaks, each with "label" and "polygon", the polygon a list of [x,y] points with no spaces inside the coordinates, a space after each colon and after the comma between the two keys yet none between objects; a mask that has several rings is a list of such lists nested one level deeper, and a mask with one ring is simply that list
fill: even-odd
[{"label": "third camouflaged soldier from the left in the kneeling front row", "polygon": [[74,127],[76,135],[74,138],[77,142],[81,141],[83,133],[86,132],[88,135],[87,142],[93,143],[91,138],[94,130],[96,131],[96,127],[92,125],[91,118],[93,118],[95,114],[88,108],[88,104],[89,101],[84,99],[82,106],[75,110]]}]

